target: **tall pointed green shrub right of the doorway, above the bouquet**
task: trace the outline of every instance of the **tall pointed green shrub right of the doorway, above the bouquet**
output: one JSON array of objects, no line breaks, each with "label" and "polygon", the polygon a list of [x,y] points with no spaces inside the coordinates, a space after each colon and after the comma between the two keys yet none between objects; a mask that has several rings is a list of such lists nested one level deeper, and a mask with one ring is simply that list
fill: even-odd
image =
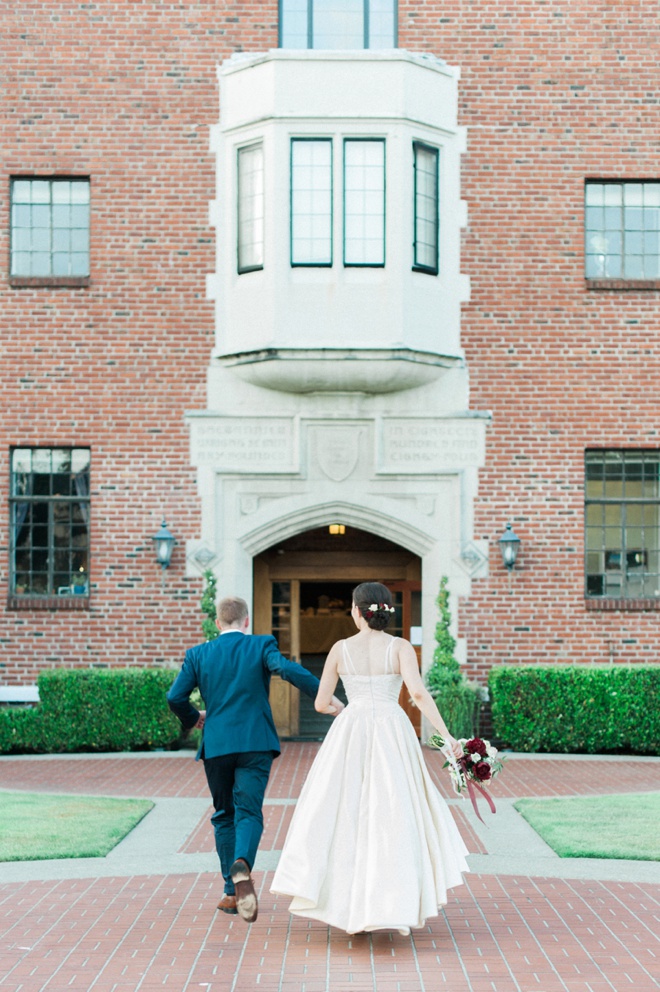
[{"label": "tall pointed green shrub right of the doorway, above the bouquet", "polygon": [[451,634],[451,611],[447,576],[440,580],[436,597],[440,619],[435,627],[436,648],[433,664],[426,673],[426,685],[454,737],[472,737],[479,733],[479,690],[461,672]]}]

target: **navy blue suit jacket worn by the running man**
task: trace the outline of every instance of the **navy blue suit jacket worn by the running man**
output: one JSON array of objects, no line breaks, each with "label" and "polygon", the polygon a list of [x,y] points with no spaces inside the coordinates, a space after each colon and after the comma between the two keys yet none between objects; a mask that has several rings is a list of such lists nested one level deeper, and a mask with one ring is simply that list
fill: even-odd
[{"label": "navy blue suit jacket worn by the running man", "polygon": [[281,655],[274,637],[232,630],[186,651],[167,702],[188,730],[199,717],[190,702],[190,693],[199,688],[206,721],[198,758],[239,751],[280,753],[268,700],[272,674],[308,696],[316,696],[319,680],[302,665]]}]

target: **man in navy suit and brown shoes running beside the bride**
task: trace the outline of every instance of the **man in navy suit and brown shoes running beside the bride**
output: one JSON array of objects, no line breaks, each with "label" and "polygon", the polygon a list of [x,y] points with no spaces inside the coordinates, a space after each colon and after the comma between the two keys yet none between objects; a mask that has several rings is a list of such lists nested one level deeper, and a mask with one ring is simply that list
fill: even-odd
[{"label": "man in navy suit and brown shoes running beside the bride", "polygon": [[[202,728],[197,758],[204,761],[213,798],[211,822],[225,880],[218,909],[252,923],[258,905],[251,871],[263,832],[263,798],[280,753],[268,701],[270,677],[279,675],[312,698],[319,680],[283,657],[274,637],[248,634],[245,600],[223,599],[217,614],[220,636],[186,651],[167,701],[186,730]],[[195,688],[206,705],[201,713],[189,698]],[[335,714],[343,709],[336,697],[332,705]]]}]

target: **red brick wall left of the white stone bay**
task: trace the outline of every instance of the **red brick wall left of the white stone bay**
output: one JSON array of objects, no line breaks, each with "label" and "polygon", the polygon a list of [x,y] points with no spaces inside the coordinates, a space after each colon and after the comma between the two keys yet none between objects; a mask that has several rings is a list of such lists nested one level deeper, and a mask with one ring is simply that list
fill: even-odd
[{"label": "red brick wall left of the white stone bay", "polygon": [[[0,23],[0,602],[16,444],[91,445],[93,587],[89,612],[0,612],[0,681],[178,662],[201,639],[183,414],[206,405],[213,343],[215,67],[276,46],[277,4],[1,3]],[[67,174],[91,176],[90,286],[10,288],[9,178]],[[163,513],[179,544],[161,587]]]}]

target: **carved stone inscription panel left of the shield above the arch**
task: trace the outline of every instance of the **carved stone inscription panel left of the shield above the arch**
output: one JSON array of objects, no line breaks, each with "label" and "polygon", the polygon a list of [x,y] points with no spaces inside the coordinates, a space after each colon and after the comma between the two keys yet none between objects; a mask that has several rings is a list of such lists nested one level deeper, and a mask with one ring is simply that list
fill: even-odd
[{"label": "carved stone inscription panel left of the shield above the arch", "polygon": [[192,457],[227,472],[295,472],[289,417],[213,417],[191,423]]}]

